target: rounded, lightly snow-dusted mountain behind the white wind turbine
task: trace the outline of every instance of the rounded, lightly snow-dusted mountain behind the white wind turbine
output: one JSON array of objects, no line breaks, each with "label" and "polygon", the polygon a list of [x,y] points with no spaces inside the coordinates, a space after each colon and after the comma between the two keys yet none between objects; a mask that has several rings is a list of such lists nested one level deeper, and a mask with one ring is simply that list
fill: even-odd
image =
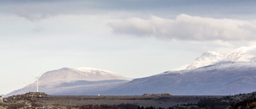
[{"label": "rounded, lightly snow-dusted mountain behind the white wind turbine", "polygon": [[[98,95],[104,91],[130,81],[116,72],[96,68],[61,68],[45,72],[39,78],[39,91],[50,95]],[[36,82],[25,88],[12,91],[9,95],[36,91]]]}]

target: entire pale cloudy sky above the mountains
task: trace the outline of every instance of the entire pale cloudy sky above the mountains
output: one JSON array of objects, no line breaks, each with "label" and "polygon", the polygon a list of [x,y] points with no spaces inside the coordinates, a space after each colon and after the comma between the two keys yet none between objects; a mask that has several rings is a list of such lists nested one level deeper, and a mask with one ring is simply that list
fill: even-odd
[{"label": "entire pale cloudy sky above the mountains", "polygon": [[0,94],[59,68],[129,78],[256,45],[254,0],[0,0]]}]

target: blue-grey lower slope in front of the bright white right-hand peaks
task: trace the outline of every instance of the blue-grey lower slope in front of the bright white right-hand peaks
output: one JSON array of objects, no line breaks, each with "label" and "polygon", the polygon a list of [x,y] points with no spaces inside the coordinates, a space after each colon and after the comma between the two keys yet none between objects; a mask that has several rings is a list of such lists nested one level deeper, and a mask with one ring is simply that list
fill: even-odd
[{"label": "blue-grey lower slope in front of the bright white right-hand peaks", "polygon": [[256,91],[256,63],[215,64],[180,72],[163,72],[111,89],[115,95],[234,95]]}]

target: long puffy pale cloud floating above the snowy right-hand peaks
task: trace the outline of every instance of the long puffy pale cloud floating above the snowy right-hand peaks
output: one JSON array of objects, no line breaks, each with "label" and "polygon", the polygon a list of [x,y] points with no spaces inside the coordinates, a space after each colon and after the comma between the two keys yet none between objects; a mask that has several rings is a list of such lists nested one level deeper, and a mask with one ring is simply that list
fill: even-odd
[{"label": "long puffy pale cloud floating above the snowy right-hand peaks", "polygon": [[154,36],[161,39],[186,41],[251,41],[256,25],[250,21],[202,18],[180,14],[175,19],[151,17],[129,18],[111,22],[114,33]]}]

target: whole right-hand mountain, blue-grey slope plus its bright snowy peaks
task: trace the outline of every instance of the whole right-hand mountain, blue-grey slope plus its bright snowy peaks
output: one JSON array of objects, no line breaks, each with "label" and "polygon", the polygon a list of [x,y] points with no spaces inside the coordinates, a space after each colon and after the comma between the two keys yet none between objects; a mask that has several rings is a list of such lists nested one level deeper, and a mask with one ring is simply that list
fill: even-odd
[{"label": "whole right-hand mountain, blue-grey slope plus its bright snowy peaks", "polygon": [[116,95],[234,95],[256,91],[256,46],[222,55],[203,53],[186,70],[134,79],[111,89]]}]

